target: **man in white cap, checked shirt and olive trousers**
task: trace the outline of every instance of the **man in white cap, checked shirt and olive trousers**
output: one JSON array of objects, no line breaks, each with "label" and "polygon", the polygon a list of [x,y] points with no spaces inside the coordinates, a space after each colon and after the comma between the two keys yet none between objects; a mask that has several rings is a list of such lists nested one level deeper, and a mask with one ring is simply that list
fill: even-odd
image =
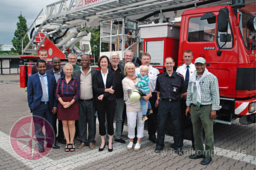
[{"label": "man in white cap, checked shirt and olive trousers", "polygon": [[[186,99],[186,115],[191,114],[195,138],[195,154],[191,159],[204,158],[200,163],[207,165],[212,161],[213,119],[220,107],[218,79],[208,72],[204,58],[195,59],[196,71],[189,79]],[[205,132],[205,150],[203,146],[203,128]]]}]

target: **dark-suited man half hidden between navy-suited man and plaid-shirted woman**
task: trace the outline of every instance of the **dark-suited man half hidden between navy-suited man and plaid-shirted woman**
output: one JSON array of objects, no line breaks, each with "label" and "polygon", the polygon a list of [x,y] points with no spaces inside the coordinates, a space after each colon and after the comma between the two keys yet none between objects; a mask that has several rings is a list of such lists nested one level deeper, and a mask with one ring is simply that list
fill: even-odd
[{"label": "dark-suited man half hidden between navy-suited man and plaid-shirted woman", "polygon": [[[56,83],[58,83],[58,79],[64,76],[64,72],[63,69],[61,69],[61,59],[59,57],[53,57],[52,58],[52,69],[47,70],[47,74],[49,75],[53,75],[55,77]],[[57,114],[53,115],[53,121],[52,121],[52,127],[55,133],[55,136],[57,135]],[[56,137],[56,140],[58,140],[59,142],[61,142],[61,144],[66,144],[66,142],[64,141],[64,133],[63,133],[63,125],[62,125],[62,121],[58,120],[58,137]],[[56,141],[54,142],[54,146],[53,147],[58,147],[58,145],[56,145]]]}]

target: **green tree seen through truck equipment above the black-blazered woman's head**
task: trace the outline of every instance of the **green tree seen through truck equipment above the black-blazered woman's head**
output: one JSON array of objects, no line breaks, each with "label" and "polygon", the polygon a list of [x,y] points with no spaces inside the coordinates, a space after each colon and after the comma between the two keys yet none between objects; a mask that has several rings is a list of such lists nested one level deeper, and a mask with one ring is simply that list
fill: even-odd
[{"label": "green tree seen through truck equipment above the black-blazered woman's head", "polygon": [[[95,55],[93,57],[95,58],[95,61],[98,61],[100,26],[96,27],[95,29],[91,30],[90,32],[91,32],[90,45],[91,45],[91,49]],[[102,43],[102,52],[108,52],[108,43]]]}]

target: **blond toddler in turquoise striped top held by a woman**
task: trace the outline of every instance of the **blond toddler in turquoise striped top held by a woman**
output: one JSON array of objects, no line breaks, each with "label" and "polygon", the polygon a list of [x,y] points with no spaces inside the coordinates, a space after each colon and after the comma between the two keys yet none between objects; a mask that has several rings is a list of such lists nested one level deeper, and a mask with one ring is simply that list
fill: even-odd
[{"label": "blond toddler in turquoise striped top held by a woman", "polygon": [[[139,87],[139,90],[145,94],[149,94],[149,83],[148,83],[148,66],[141,66],[140,67],[140,73],[137,74],[137,77],[140,78],[139,82],[136,82],[135,85]],[[146,109],[146,101],[143,98],[140,98],[140,104],[142,108],[142,120],[141,122],[147,120],[147,109]],[[148,113],[151,114],[152,107],[150,105],[150,102],[148,101]]]}]

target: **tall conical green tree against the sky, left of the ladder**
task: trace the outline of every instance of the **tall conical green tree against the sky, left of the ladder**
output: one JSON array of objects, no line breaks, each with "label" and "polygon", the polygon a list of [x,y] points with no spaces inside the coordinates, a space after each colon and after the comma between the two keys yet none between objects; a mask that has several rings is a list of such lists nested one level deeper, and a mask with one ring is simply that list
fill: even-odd
[{"label": "tall conical green tree against the sky, left of the ladder", "polygon": [[[17,22],[17,29],[14,32],[14,37],[12,39],[12,45],[14,48],[11,49],[11,52],[17,52],[18,54],[21,54],[21,40],[28,31],[28,26],[26,24],[26,19],[23,17],[23,15],[20,12],[20,16],[18,16],[19,22]],[[25,39],[23,40],[23,48],[27,45],[29,42],[29,37],[26,35]]]}]

